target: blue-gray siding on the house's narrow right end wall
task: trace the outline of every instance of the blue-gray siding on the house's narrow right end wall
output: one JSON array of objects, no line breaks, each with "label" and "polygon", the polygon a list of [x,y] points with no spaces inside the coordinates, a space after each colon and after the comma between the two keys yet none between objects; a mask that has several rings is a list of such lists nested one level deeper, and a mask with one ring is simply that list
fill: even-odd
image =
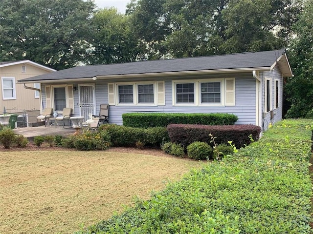
[{"label": "blue-gray siding on the house's narrow right end wall", "polygon": [[[278,65],[274,67],[272,71],[266,71],[261,73],[260,77],[262,78],[262,113],[263,116],[262,119],[262,129],[267,130],[269,124],[274,124],[277,121],[282,120],[283,117],[283,78],[282,74],[279,70]],[[270,112],[266,112],[265,109],[265,84],[266,84],[266,78],[270,78],[270,86],[271,86],[271,111],[274,112],[274,117],[270,118]],[[275,80],[279,80],[279,107],[275,109]]]}]

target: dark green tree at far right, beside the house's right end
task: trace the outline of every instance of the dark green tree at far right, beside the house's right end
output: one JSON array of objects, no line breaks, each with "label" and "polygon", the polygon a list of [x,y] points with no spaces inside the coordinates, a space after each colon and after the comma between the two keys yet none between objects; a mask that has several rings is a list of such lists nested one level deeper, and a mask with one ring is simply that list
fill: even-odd
[{"label": "dark green tree at far right, beside the house's right end", "polygon": [[291,108],[286,117],[313,118],[313,1],[304,2],[304,11],[293,26],[295,38],[291,41],[290,61],[294,77],[285,87]]}]

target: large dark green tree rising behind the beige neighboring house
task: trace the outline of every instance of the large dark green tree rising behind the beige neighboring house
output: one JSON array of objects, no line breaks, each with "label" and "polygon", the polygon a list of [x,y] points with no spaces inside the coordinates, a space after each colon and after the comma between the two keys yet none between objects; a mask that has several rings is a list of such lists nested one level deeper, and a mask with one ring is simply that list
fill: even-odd
[{"label": "large dark green tree rising behind the beige neighboring house", "polygon": [[60,70],[85,61],[92,0],[1,0],[0,61],[29,59]]}]

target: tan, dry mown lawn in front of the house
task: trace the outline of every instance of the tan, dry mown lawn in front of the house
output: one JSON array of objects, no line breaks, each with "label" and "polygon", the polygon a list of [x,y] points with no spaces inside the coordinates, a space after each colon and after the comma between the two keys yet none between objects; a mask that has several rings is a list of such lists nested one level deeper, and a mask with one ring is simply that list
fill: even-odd
[{"label": "tan, dry mown lawn in front of the house", "polygon": [[73,233],[201,166],[116,152],[1,152],[0,233]]}]

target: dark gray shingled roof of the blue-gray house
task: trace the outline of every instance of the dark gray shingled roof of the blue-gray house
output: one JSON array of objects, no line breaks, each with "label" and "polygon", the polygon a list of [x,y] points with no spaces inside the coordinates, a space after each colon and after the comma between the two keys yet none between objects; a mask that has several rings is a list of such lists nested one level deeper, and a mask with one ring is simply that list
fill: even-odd
[{"label": "dark gray shingled roof of the blue-gray house", "polygon": [[78,66],[45,75],[25,78],[19,81],[26,82],[40,80],[61,80],[73,78],[93,78],[96,76],[134,75],[183,71],[267,68],[275,63],[276,59],[278,59],[284,53],[285,50],[282,49],[230,55]]}]

